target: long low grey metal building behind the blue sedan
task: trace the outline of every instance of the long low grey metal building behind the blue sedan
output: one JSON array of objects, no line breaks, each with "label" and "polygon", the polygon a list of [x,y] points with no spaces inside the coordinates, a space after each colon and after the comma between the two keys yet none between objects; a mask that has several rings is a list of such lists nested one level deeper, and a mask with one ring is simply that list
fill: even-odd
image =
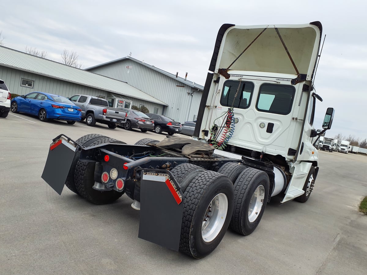
[{"label": "long low grey metal building behind the blue sedan", "polygon": [[114,107],[144,105],[160,113],[167,106],[164,101],[126,82],[3,46],[0,46],[0,79],[4,80],[12,94],[18,95],[33,91],[65,97],[87,94],[116,99]]}]

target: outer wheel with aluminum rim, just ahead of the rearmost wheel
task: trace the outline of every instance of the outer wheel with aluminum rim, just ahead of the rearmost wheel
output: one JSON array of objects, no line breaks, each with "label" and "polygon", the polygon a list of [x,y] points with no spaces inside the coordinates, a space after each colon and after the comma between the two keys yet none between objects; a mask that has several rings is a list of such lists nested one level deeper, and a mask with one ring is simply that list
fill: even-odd
[{"label": "outer wheel with aluminum rim, just ahead of the rearmost wheel", "polygon": [[234,185],[235,204],[229,227],[250,235],[259,225],[269,196],[269,176],[264,171],[247,168]]}]

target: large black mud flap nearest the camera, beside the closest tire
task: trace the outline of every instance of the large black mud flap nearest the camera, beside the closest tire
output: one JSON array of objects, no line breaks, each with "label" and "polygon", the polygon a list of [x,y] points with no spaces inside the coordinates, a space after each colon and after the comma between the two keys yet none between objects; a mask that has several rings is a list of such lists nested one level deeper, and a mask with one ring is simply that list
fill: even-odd
[{"label": "large black mud flap nearest the camera, beside the closest tire", "polygon": [[183,193],[167,170],[143,169],[139,238],[178,251]]}]

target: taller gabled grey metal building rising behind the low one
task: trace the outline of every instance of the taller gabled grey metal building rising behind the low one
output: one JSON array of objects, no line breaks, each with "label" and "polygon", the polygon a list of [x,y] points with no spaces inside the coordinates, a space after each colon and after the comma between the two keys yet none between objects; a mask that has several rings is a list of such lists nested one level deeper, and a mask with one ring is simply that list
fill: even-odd
[{"label": "taller gabled grey metal building rising behind the low one", "polygon": [[[130,56],[86,70],[124,81],[167,103],[168,106],[164,107],[163,112],[146,106],[151,113],[163,114],[181,123],[196,120],[204,87],[187,80],[187,73],[185,78],[181,78],[177,74],[168,73]],[[139,107],[139,105],[137,106]]]}]

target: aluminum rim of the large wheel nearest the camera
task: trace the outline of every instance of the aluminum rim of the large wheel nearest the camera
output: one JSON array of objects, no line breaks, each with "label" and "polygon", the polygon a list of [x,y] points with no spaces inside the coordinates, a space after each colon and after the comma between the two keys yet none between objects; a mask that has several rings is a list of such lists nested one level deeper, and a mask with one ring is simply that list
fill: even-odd
[{"label": "aluminum rim of the large wheel nearest the camera", "polygon": [[228,211],[228,199],[223,193],[216,195],[209,203],[201,225],[201,236],[204,242],[213,241],[221,232]]}]

